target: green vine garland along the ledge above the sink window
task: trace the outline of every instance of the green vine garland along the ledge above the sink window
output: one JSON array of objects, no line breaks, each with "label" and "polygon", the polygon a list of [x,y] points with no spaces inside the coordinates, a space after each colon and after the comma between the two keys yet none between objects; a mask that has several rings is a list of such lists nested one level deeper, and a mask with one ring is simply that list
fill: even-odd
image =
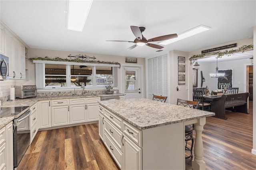
[{"label": "green vine garland along the ledge above the sink window", "polygon": [[67,59],[67,58],[60,58],[60,57],[55,57],[55,58],[50,58],[48,56],[46,57],[36,57],[36,58],[29,58],[30,61],[33,60],[44,60],[44,61],[66,61],[66,62],[76,62],[76,63],[97,63],[97,64],[117,64],[120,65],[118,62],[110,62],[110,61],[95,61],[95,60],[81,60],[79,58],[76,59]]}]

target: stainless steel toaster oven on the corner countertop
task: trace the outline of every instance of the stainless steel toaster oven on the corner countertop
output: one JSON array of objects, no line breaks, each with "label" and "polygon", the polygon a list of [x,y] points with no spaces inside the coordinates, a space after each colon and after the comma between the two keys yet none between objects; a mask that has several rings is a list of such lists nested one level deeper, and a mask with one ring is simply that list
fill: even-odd
[{"label": "stainless steel toaster oven on the corner countertop", "polygon": [[28,97],[37,96],[36,85],[21,85],[21,86],[14,86],[14,88],[15,88],[15,98],[25,99]]}]

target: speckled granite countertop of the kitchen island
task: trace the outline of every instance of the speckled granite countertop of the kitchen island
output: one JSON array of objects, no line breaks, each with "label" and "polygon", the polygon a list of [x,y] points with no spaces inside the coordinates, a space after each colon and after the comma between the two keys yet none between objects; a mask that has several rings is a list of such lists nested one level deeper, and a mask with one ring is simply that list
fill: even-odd
[{"label": "speckled granite countertop of the kitchen island", "polygon": [[190,109],[150,99],[126,99],[98,102],[100,105],[106,107],[140,130],[215,115],[215,113],[208,111]]}]

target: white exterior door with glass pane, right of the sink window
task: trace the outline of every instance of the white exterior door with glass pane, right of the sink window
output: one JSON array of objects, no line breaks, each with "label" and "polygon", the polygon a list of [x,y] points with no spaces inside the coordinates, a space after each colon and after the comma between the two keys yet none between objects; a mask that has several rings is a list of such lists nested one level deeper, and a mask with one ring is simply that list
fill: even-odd
[{"label": "white exterior door with glass pane, right of the sink window", "polygon": [[124,67],[123,88],[125,99],[141,98],[141,68]]}]

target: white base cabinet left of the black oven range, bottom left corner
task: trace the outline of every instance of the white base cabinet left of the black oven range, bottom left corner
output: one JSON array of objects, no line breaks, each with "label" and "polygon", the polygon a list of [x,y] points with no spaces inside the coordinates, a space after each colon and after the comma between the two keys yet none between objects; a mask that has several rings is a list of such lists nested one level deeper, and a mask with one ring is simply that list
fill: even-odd
[{"label": "white base cabinet left of the black oven range, bottom left corner", "polygon": [[12,122],[0,129],[0,170],[13,169]]}]

